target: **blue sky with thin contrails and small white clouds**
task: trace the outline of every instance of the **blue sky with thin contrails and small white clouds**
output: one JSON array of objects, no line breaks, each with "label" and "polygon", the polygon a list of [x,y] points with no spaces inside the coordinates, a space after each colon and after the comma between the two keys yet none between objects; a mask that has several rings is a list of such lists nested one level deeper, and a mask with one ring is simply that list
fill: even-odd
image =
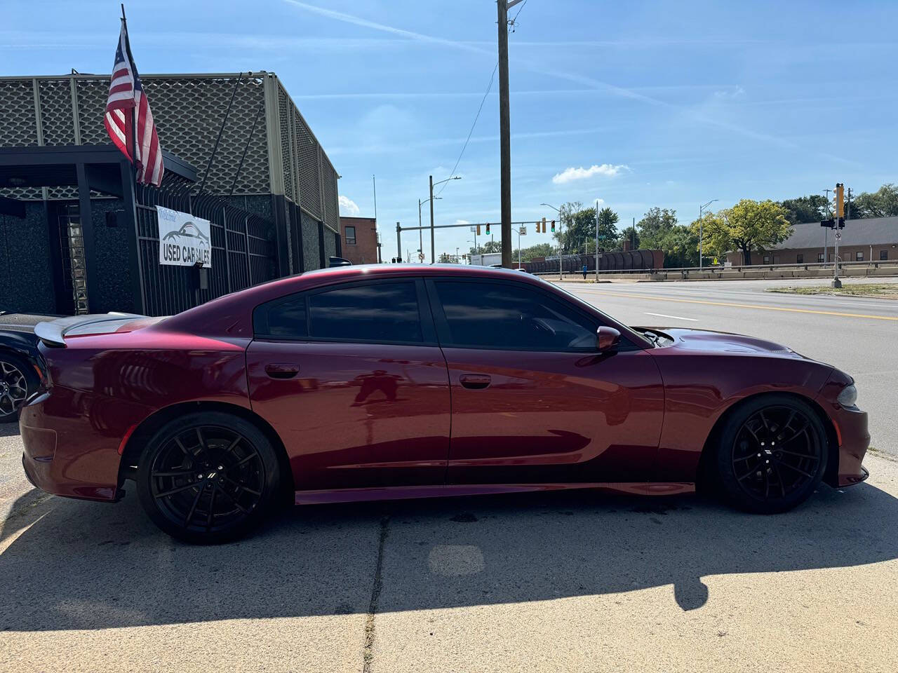
[{"label": "blue sky with thin contrails and small white clouds", "polygon": [[[449,177],[496,65],[491,0],[132,0],[127,11],[144,73],[276,72],[342,176],[344,214],[374,214],[376,174],[391,256],[427,176]],[[108,72],[118,15],[112,2],[4,0],[0,74]],[[621,223],[653,205],[689,221],[711,198],[898,181],[896,26],[895,2],[527,0],[509,39],[514,219],[601,198]],[[496,222],[497,81],[457,172],[437,223]],[[403,238],[403,252],[418,247]],[[437,253],[469,239],[439,232]],[[522,243],[548,240],[531,230]]]}]

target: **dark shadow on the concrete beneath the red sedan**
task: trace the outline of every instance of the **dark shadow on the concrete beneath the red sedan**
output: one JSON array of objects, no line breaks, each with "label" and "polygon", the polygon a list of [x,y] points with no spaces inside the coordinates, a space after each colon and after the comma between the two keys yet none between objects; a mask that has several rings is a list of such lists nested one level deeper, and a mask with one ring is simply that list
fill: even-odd
[{"label": "dark shadow on the concrete beneath the red sedan", "polygon": [[[4,526],[0,629],[49,631],[515,603],[898,558],[898,500],[822,486],[777,516],[692,496],[516,494],[294,508],[255,536],[187,546],[116,505],[52,498]],[[28,515],[25,515],[28,516]],[[761,580],[759,580],[761,581]]]}]

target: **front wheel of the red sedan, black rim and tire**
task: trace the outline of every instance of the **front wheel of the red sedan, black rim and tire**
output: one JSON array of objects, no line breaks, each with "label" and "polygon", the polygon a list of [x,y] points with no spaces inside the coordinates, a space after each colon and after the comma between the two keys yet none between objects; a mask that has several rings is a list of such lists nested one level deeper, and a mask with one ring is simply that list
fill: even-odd
[{"label": "front wheel of the red sedan, black rim and tire", "polygon": [[745,511],[791,510],[814,493],[826,471],[826,431],[800,398],[750,399],[726,418],[719,437],[714,461],[719,485],[726,499]]}]

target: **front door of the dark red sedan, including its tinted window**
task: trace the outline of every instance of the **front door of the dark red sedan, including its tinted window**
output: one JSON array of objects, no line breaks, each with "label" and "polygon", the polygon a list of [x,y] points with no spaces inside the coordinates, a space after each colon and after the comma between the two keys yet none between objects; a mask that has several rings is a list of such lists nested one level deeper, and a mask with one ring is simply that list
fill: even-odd
[{"label": "front door of the dark red sedan, including its tinted window", "polygon": [[652,479],[664,389],[651,355],[596,352],[601,319],[532,284],[428,281],[452,387],[453,484]]}]

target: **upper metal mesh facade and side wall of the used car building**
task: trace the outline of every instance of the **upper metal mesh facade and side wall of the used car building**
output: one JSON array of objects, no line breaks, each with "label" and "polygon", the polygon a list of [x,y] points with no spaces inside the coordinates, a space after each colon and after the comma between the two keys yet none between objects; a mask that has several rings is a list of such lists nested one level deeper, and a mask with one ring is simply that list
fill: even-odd
[{"label": "upper metal mesh facade and side wall of the used car building", "polygon": [[[339,255],[339,176],[276,74],[141,79],[163,149],[194,166],[200,179],[208,166],[204,192],[277,221],[282,275],[324,266],[328,255]],[[0,147],[110,144],[103,127],[109,84],[108,76],[92,74],[0,78]],[[30,200],[75,197],[64,187],[0,193]]]}]

